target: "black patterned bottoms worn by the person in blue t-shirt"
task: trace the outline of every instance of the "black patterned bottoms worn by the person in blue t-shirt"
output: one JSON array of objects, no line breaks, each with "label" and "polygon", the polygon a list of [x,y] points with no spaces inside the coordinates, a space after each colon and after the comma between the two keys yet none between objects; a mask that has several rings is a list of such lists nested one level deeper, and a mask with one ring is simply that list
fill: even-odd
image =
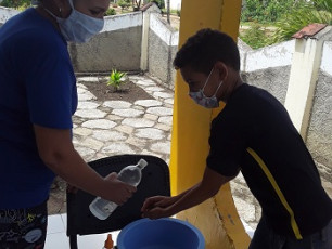
[{"label": "black patterned bottoms worn by the person in blue t-shirt", "polygon": [[47,224],[47,201],[27,209],[0,209],[0,249],[42,249]]}]

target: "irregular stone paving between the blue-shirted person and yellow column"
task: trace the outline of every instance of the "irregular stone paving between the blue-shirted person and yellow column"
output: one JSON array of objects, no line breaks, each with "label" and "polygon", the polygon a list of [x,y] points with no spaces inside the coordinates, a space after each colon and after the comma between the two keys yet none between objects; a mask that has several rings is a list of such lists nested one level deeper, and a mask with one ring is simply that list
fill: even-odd
[{"label": "irregular stone paving between the blue-shirted person and yellow column", "polygon": [[146,77],[129,76],[155,100],[100,102],[77,78],[74,145],[86,161],[118,154],[155,155],[169,162],[174,93]]}]

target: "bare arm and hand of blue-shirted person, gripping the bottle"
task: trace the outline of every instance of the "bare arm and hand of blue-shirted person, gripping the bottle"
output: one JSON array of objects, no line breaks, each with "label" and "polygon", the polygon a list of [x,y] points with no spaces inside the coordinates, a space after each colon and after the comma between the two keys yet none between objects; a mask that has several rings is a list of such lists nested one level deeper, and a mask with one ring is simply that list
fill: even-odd
[{"label": "bare arm and hand of blue-shirted person, gripping the bottle", "polygon": [[99,175],[75,150],[71,130],[51,129],[35,124],[35,135],[41,160],[55,174],[69,183],[68,191],[82,189],[123,205],[136,192],[136,187],[117,180],[116,173]]}]

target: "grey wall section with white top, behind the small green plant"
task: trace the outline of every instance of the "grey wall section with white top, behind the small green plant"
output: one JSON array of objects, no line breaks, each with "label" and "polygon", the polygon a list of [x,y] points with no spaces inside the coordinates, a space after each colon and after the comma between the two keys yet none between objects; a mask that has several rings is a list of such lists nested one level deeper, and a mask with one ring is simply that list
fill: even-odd
[{"label": "grey wall section with white top, behind the small green plant", "polygon": [[75,71],[108,73],[113,68],[139,71],[142,25],[142,12],[106,16],[101,32],[88,43],[69,44]]}]

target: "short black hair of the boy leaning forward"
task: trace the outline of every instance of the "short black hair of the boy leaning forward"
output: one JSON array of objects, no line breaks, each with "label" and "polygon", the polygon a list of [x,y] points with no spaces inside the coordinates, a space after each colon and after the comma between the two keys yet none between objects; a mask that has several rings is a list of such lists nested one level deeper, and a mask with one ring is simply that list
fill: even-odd
[{"label": "short black hair of the boy leaning forward", "polygon": [[240,54],[233,39],[219,30],[205,28],[186,41],[174,60],[174,66],[177,69],[190,66],[196,71],[208,74],[218,61],[240,70]]}]

